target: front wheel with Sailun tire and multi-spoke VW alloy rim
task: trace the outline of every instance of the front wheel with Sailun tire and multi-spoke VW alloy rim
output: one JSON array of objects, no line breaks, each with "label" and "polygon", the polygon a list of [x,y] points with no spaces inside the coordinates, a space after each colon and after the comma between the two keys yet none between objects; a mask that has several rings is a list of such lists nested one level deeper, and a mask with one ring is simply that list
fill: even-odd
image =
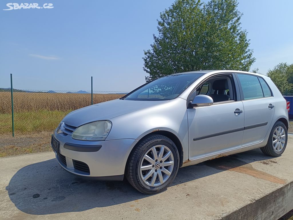
[{"label": "front wheel with Sailun tire and multi-spoke VW alloy rim", "polygon": [[178,168],[179,153],[175,143],[163,135],[151,135],[141,140],[132,150],[125,173],[128,182],[139,192],[154,194],[171,184]]}]

